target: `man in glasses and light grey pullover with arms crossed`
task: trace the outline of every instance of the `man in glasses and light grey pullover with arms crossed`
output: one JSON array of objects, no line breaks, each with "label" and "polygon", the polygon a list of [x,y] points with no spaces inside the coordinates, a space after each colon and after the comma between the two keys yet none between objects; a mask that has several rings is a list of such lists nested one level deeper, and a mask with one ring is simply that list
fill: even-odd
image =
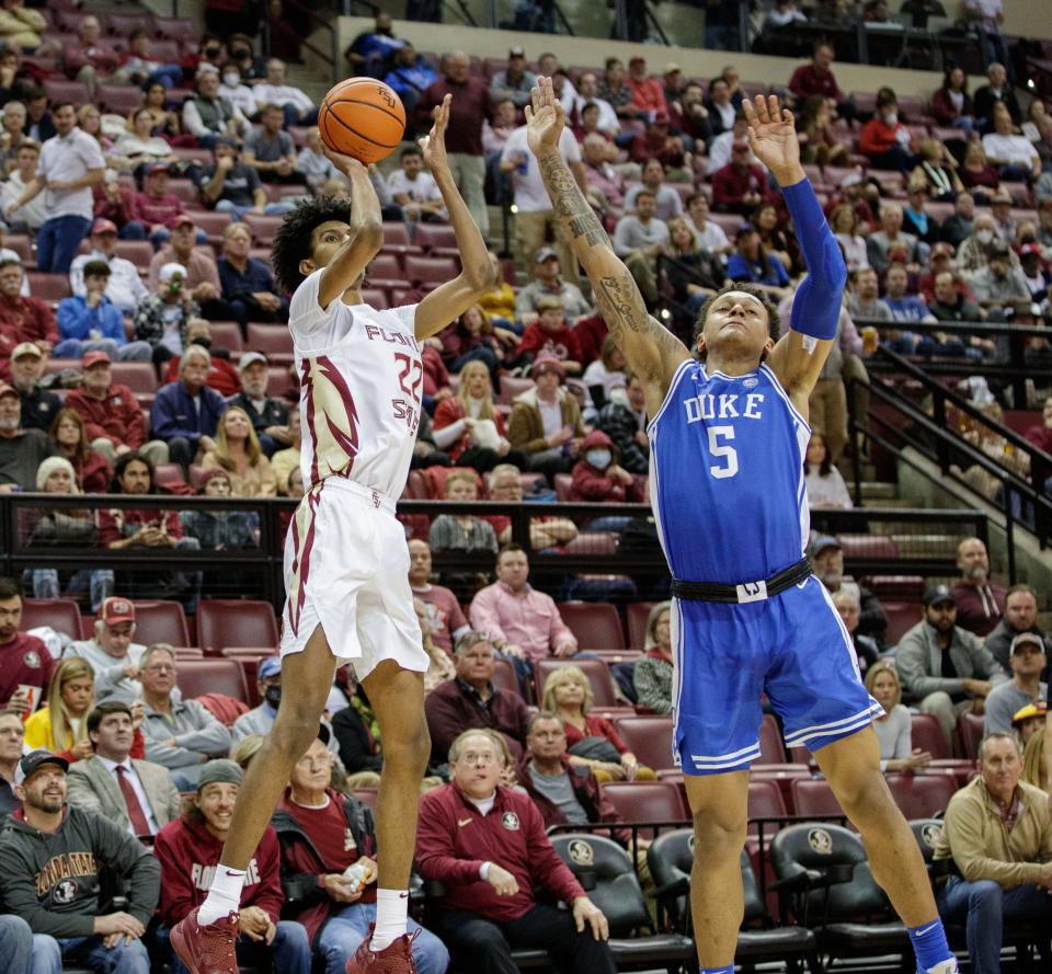
[{"label": "man in glasses and light grey pullover with arms crossed", "polygon": [[230,732],[203,703],[173,697],[178,668],[171,646],[163,643],[142,654],[139,676],[146,704],[146,757],[168,768],[180,791],[191,791],[202,765],[230,750]]}]

